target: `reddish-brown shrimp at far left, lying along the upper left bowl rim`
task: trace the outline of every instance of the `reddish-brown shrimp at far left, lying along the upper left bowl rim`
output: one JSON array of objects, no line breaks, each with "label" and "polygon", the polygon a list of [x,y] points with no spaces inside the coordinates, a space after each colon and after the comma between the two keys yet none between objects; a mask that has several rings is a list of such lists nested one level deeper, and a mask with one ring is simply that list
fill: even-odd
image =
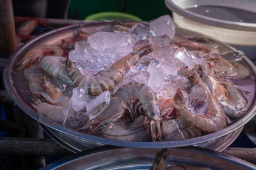
[{"label": "reddish-brown shrimp at far left, lying along the upper left bowl rim", "polygon": [[24,55],[24,57],[17,62],[17,66],[19,66],[18,70],[23,70],[26,67],[29,67],[33,64],[38,64],[42,60],[42,58],[46,55],[56,55],[61,56],[63,54],[63,50],[60,46],[57,45],[40,45],[35,46],[29,52]]}]

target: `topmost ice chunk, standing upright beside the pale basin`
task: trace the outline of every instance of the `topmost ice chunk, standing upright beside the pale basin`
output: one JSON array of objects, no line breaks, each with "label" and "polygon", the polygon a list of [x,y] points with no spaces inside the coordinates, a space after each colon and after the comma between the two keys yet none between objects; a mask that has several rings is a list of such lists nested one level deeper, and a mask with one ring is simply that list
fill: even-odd
[{"label": "topmost ice chunk, standing upright beside the pale basin", "polygon": [[175,34],[175,24],[169,15],[163,15],[150,23],[156,36],[168,35],[173,39]]}]

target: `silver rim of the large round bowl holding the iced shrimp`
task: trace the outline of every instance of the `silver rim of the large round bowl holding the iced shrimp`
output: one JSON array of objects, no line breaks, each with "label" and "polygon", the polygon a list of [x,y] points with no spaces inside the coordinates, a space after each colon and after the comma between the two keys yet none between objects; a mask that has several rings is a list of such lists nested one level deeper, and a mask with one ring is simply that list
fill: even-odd
[{"label": "silver rim of the large round bowl holding the iced shrimp", "polygon": [[[34,118],[38,122],[46,125],[47,127],[50,127],[56,131],[63,132],[64,134],[74,136],[76,138],[85,139],[87,141],[92,141],[95,143],[102,143],[105,145],[113,145],[113,146],[122,146],[122,147],[136,147],[136,148],[169,148],[169,147],[180,147],[180,146],[188,146],[188,145],[196,145],[200,143],[207,143],[213,139],[220,138],[221,136],[225,136],[226,134],[229,134],[230,132],[234,132],[240,127],[242,127],[246,122],[251,120],[256,115],[256,101],[252,102],[252,107],[247,111],[247,113],[239,118],[236,122],[228,125],[228,127],[225,127],[217,132],[212,132],[211,134],[206,134],[204,136],[199,136],[196,138],[191,139],[184,139],[179,141],[161,141],[161,142],[134,142],[134,141],[120,141],[116,139],[108,139],[108,138],[102,138],[99,136],[93,136],[90,134],[85,134],[83,132],[78,132],[73,129],[69,129],[67,127],[64,127],[63,125],[57,124],[50,118],[39,116],[38,113],[36,113],[35,110],[32,110],[28,104],[26,104],[22,98],[17,94],[17,91],[15,87],[13,86],[12,82],[12,68],[14,66],[14,61],[17,56],[20,55],[22,50],[26,50],[27,46],[35,43],[36,41],[40,41],[41,38],[45,38],[46,36],[51,36],[52,34],[56,32],[65,31],[66,29],[77,29],[81,27],[81,25],[107,25],[107,24],[113,24],[116,22],[86,22],[82,24],[74,24],[74,25],[68,25],[65,27],[61,27],[59,29],[55,29],[53,31],[45,32],[44,34],[41,34],[40,36],[37,36],[33,39],[30,39],[28,42],[24,43],[23,46],[19,48],[19,50],[16,50],[8,59],[6,62],[6,66],[4,67],[4,85],[6,87],[6,90],[12,100],[21,108],[25,113],[27,113],[30,117]],[[211,39],[211,38],[210,38]],[[216,41],[216,40],[214,40]],[[218,41],[218,43],[220,43]],[[230,49],[236,50],[236,48],[233,48],[230,45],[227,45],[225,43],[221,43],[225,46],[228,46]],[[243,56],[243,59],[246,61],[247,64],[252,67],[253,73],[256,74],[256,66],[253,64],[253,62],[248,59],[246,56]],[[40,119],[39,119],[40,117]]]}]

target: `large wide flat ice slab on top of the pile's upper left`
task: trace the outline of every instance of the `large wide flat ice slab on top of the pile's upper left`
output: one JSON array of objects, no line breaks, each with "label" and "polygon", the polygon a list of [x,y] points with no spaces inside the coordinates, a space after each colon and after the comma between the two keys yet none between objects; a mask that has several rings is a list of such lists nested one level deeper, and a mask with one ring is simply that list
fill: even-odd
[{"label": "large wide flat ice slab on top of the pile's upper left", "polygon": [[116,34],[116,32],[96,32],[88,37],[88,43],[95,50],[104,50],[115,46],[132,46],[139,40],[134,34]]}]

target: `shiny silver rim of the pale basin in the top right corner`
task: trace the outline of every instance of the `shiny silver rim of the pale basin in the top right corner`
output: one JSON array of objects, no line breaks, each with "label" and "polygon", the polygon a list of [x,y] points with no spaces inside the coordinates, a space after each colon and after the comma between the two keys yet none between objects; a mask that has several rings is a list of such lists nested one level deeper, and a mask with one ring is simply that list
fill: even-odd
[{"label": "shiny silver rim of the pale basin in the top right corner", "polygon": [[223,27],[228,29],[237,29],[242,31],[256,31],[256,23],[245,23],[245,22],[232,22],[228,20],[220,20],[217,18],[206,17],[198,13],[186,10],[186,8],[196,7],[196,6],[221,6],[229,8],[237,8],[241,10],[253,11],[256,13],[255,1],[246,0],[165,0],[166,6],[175,13],[189,18],[190,20],[195,20],[196,22],[201,22],[207,25],[213,25],[216,27]]}]

